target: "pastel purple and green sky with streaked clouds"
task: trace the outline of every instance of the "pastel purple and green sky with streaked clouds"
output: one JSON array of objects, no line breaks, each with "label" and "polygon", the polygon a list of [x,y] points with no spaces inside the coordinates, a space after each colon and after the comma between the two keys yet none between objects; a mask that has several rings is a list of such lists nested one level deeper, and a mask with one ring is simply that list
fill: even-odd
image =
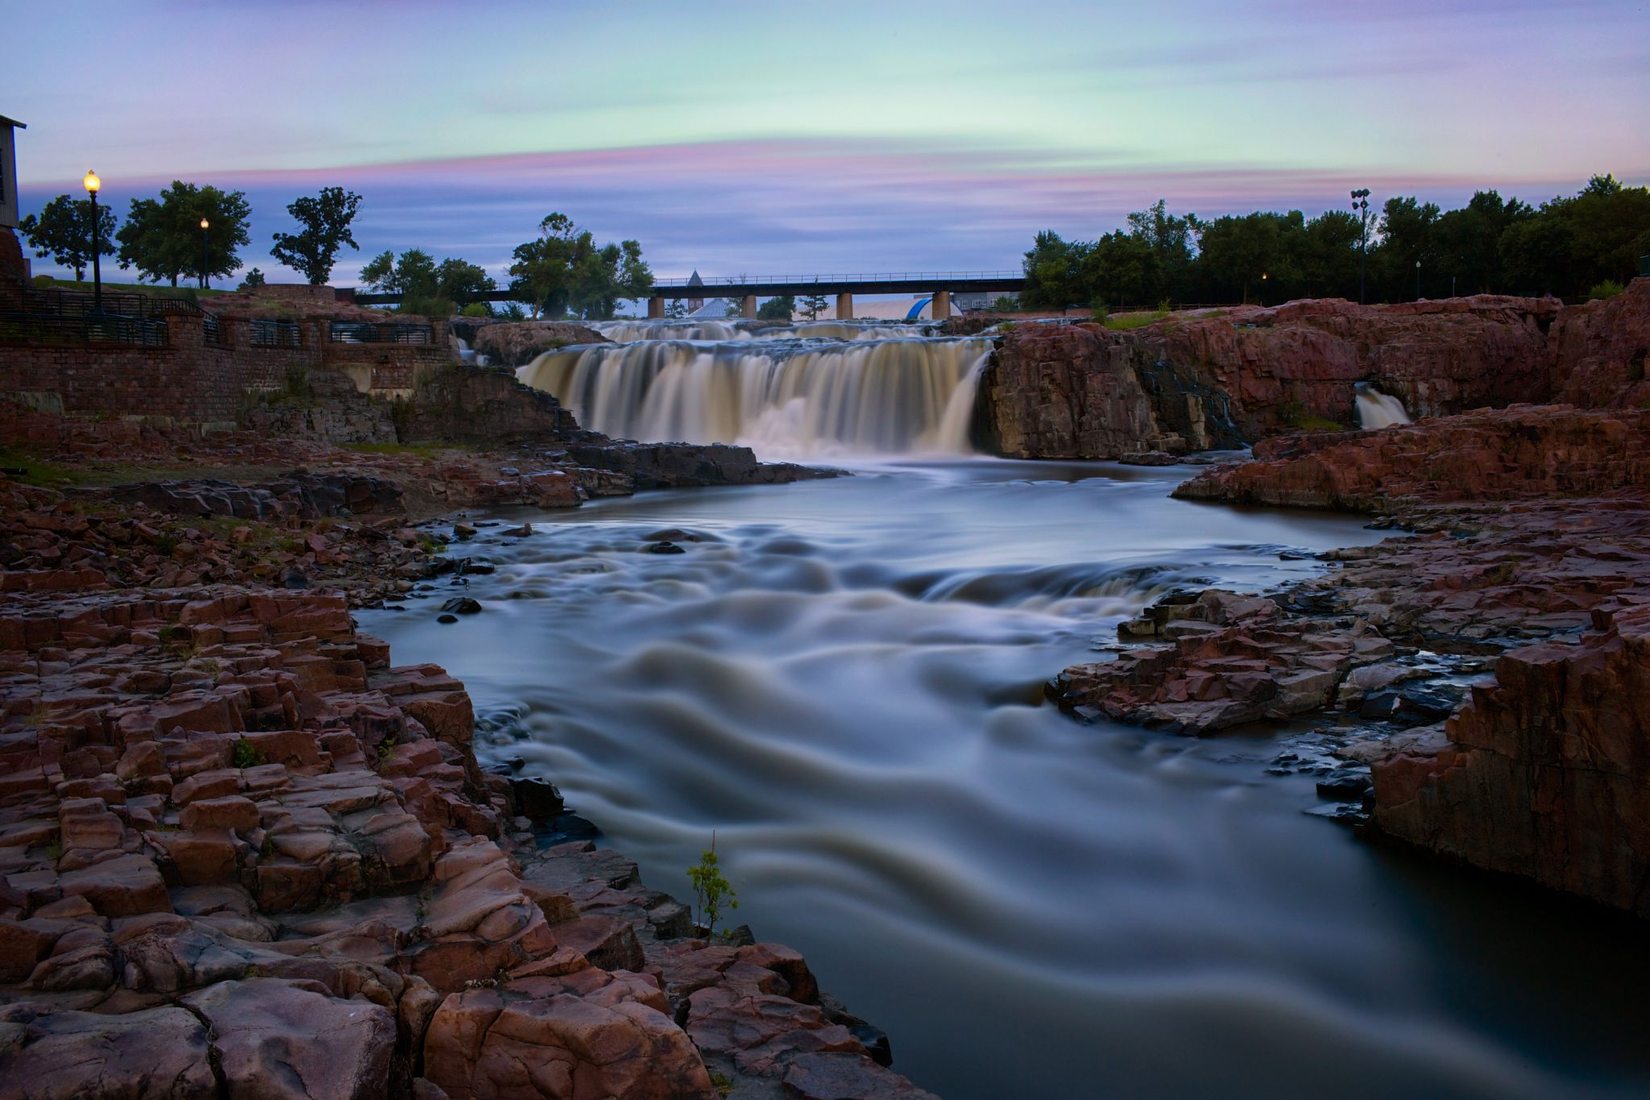
[{"label": "pastel purple and green sky with streaked clouds", "polygon": [[[658,277],[1005,270],[1201,216],[1650,183],[1650,0],[0,0],[23,213],[363,196],[360,251],[503,279],[561,211]],[[36,272],[54,272],[36,261]],[[111,274],[119,279],[119,274]]]}]

